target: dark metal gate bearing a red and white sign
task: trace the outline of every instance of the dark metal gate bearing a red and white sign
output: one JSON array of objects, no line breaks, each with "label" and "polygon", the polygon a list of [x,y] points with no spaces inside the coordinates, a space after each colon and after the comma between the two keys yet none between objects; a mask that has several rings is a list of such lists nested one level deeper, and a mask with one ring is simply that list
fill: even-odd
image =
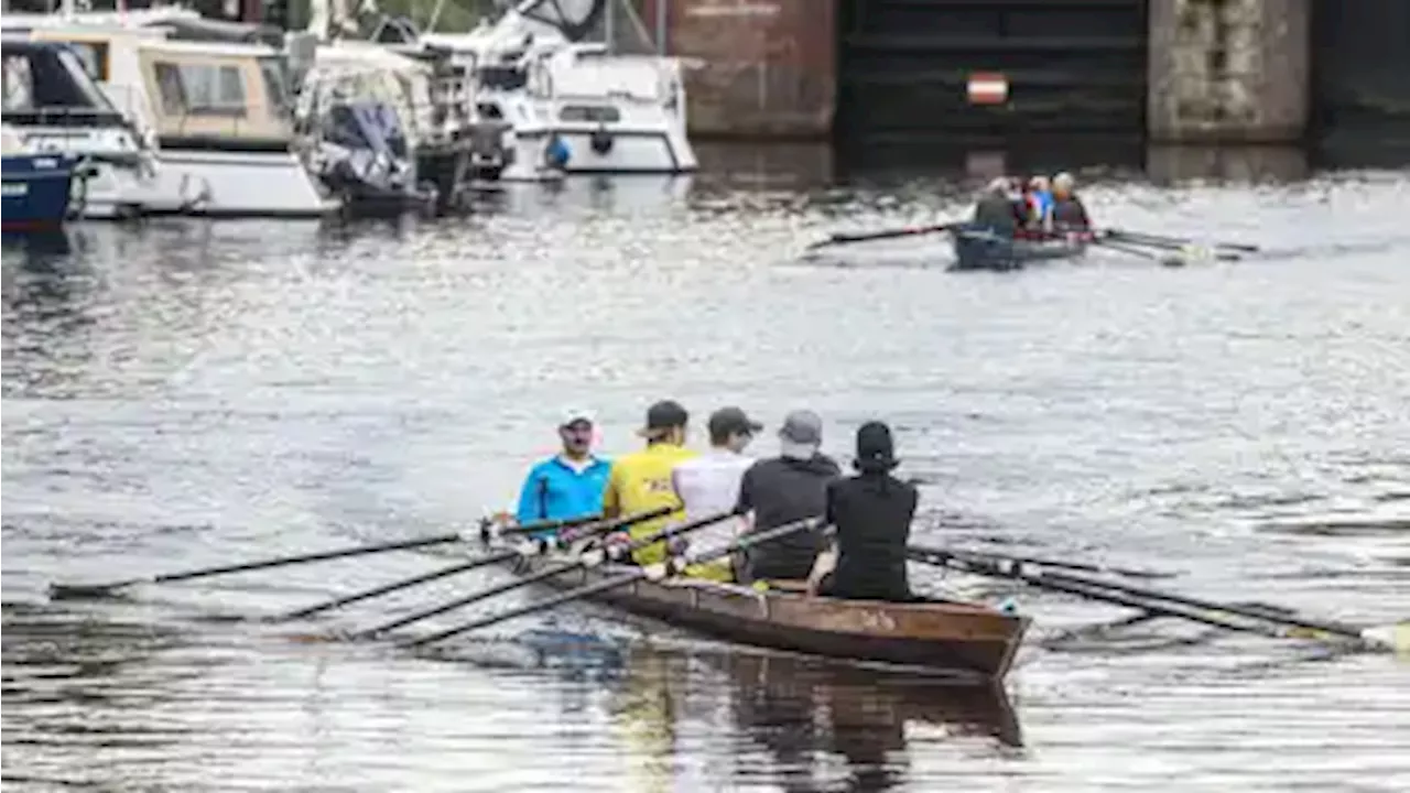
[{"label": "dark metal gate bearing a red and white sign", "polygon": [[1145,0],[839,1],[839,140],[1145,134]]}]

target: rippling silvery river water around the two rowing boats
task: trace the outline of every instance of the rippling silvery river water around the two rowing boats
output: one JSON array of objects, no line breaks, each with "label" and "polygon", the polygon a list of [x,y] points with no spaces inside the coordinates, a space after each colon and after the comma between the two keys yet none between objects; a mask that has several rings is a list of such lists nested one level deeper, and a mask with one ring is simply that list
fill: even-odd
[{"label": "rippling silvery river water around the two rowing boats", "polygon": [[1410,171],[1111,172],[1087,190],[1110,226],[1268,250],[1012,274],[946,272],[924,241],[804,258],[835,230],[962,210],[945,179],[826,181],[750,159],[510,189],[440,223],[7,243],[0,787],[1410,789],[1410,660],[1172,621],[1056,641],[1125,612],[933,570],[916,586],[1036,618],[1003,691],[592,605],[437,656],[326,639],[495,571],[254,619],[427,570],[423,553],[48,601],[55,580],[444,532],[512,501],[565,406],[616,453],[673,396],[770,423],[809,406],[843,459],[860,422],[891,422],[931,543],[1410,614]]}]

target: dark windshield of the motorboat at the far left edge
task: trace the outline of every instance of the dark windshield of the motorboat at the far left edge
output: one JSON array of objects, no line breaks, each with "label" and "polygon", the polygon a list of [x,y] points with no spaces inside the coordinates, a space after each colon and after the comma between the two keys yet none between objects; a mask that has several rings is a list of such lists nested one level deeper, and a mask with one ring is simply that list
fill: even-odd
[{"label": "dark windshield of the motorboat at the far left edge", "polygon": [[117,114],[83,61],[59,47],[0,51],[0,111]]}]

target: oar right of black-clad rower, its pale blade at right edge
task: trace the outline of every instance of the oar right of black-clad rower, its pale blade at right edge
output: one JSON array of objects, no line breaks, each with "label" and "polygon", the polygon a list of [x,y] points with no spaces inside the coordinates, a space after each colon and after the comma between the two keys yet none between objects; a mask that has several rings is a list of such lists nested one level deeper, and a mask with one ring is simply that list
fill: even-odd
[{"label": "oar right of black-clad rower, its pale blade at right edge", "polygon": [[[1177,595],[1175,593],[1131,587],[1115,581],[1097,581],[1063,573],[1048,573],[1042,571],[1041,567],[1035,571],[1025,571],[1022,566],[1001,566],[993,562],[964,559],[936,550],[926,552],[911,549],[909,557],[915,562],[942,564],[983,576],[1014,579],[1053,591],[1077,594],[1091,600],[1114,603],[1129,608],[1139,608],[1163,617],[1177,617],[1191,622],[1203,622],[1206,625],[1214,625],[1215,628],[1225,628],[1228,631],[1245,631],[1275,638],[1318,641],[1349,639],[1354,645],[1358,645],[1362,649],[1389,649],[1394,652],[1410,650],[1410,624],[1363,628],[1361,625],[1348,625],[1344,622],[1308,619],[1292,612],[1275,614],[1268,608],[1248,608],[1234,604],[1213,603]],[[1186,608],[1163,605],[1160,601],[1177,604]],[[1196,608],[1206,611],[1196,611]],[[1235,615],[1251,619],[1251,622],[1238,622],[1228,618]]]}]

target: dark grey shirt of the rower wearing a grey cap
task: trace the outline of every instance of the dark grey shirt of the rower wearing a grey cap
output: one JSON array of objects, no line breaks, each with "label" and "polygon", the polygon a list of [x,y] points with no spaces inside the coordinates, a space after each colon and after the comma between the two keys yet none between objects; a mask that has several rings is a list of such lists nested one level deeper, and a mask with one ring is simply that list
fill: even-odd
[{"label": "dark grey shirt of the rower wearing a grey cap", "polygon": [[[744,471],[739,483],[739,508],[754,512],[750,532],[763,532],[805,518],[816,518],[828,505],[828,483],[842,468],[826,454],[809,460],[771,457]],[[826,546],[816,532],[798,532],[750,549],[750,579],[807,579],[812,563]]]}]

